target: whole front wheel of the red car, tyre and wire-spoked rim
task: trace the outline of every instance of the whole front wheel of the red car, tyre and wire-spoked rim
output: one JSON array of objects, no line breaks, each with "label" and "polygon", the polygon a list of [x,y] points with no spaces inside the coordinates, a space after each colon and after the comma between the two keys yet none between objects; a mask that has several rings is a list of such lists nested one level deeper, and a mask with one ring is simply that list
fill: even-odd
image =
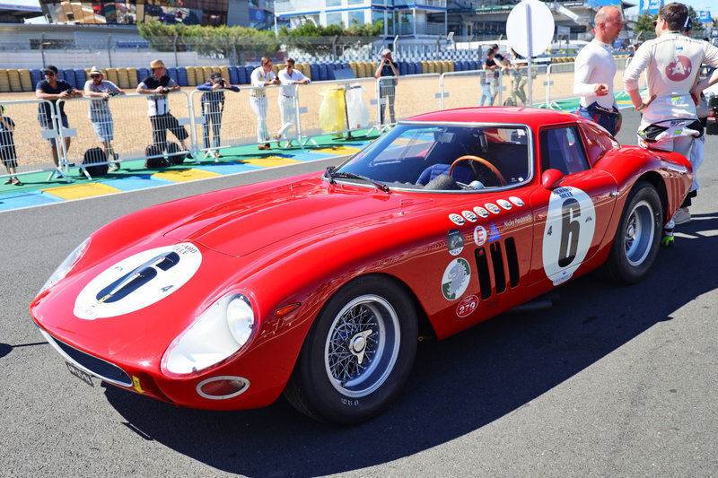
[{"label": "whole front wheel of the red car, tyre and wire-spoked rim", "polygon": [[386,408],[416,356],[416,308],[396,282],[349,282],[311,326],[285,388],[297,410],[321,422],[363,422]]}]

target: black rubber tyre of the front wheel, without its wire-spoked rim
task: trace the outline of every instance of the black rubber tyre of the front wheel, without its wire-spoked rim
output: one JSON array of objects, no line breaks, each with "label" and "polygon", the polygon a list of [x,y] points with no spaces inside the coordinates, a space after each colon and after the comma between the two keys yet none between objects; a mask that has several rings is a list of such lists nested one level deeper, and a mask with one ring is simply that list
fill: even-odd
[{"label": "black rubber tyre of the front wheel, without its wire-spoked rim", "polygon": [[[370,395],[349,397],[332,386],[324,366],[324,347],[329,329],[338,312],[356,297],[373,294],[387,300],[398,315],[400,343],[397,360],[381,387]],[[416,356],[418,329],[416,308],[398,284],[374,277],[349,282],[337,291],[314,321],[302,346],[299,368],[304,385],[302,395],[312,414],[335,423],[356,423],[380,413],[398,395],[406,382]]]}]

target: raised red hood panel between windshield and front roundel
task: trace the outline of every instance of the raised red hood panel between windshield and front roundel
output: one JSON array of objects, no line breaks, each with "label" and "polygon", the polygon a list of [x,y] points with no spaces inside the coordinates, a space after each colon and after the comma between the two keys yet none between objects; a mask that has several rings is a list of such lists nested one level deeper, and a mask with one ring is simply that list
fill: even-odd
[{"label": "raised red hood panel between windshield and front roundel", "polygon": [[314,178],[217,204],[193,214],[165,236],[246,256],[280,240],[400,206],[396,195],[366,187],[328,186]]}]

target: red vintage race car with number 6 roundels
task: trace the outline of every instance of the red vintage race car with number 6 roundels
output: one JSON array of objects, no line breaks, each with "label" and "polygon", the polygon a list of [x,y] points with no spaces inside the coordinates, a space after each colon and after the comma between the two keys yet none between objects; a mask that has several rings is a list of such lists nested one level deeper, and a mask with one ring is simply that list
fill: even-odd
[{"label": "red vintage race car with number 6 roundels", "polygon": [[188,407],[284,395],[353,423],[442,339],[593,269],[636,282],[692,180],[542,109],[402,121],[336,169],[131,213],[86,239],[31,315],[74,375]]}]

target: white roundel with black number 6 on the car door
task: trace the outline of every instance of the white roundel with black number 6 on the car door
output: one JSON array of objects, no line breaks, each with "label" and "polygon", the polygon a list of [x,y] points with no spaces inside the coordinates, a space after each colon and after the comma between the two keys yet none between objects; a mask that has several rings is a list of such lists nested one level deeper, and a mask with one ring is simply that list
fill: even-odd
[{"label": "white roundel with black number 6 on the car door", "polygon": [[548,201],[543,239],[544,271],[554,285],[568,281],[591,248],[596,209],[576,187],[557,187]]}]

